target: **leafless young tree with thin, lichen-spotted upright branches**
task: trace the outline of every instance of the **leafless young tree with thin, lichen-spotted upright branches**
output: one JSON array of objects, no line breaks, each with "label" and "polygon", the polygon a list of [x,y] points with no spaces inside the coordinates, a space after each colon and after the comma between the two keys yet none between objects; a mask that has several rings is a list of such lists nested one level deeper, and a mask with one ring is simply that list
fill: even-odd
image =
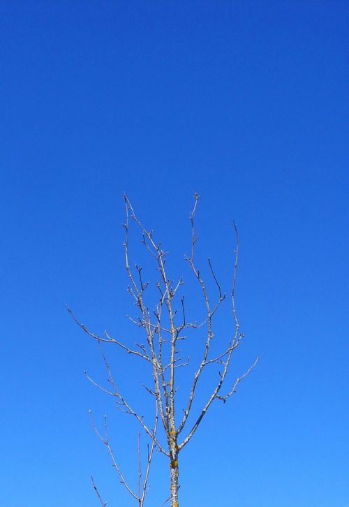
[{"label": "leafless young tree with thin, lichen-spotted upright branches", "polygon": [[[217,314],[218,308],[221,306],[226,296],[221,289],[221,284],[218,282],[216,272],[212,267],[211,260],[208,258],[209,271],[211,272],[212,279],[218,291],[218,297],[216,297],[213,302],[211,296],[209,295],[207,284],[196,265],[195,247],[198,236],[195,233],[195,214],[198,207],[198,194],[195,193],[193,210],[190,215],[191,254],[189,256],[186,256],[186,262],[188,263],[188,266],[193,273],[193,277],[195,277],[196,281],[198,282],[200,292],[202,293],[202,300],[205,304],[205,319],[200,324],[196,323],[195,321],[188,321],[187,319],[184,296],[182,295],[179,297],[179,288],[182,284],[184,284],[184,281],[182,278],[180,278],[176,283],[174,283],[174,281],[170,279],[170,276],[168,274],[168,267],[166,265],[166,256],[168,252],[163,250],[161,243],[157,243],[154,240],[153,231],[148,230],[140,221],[140,219],[138,219],[138,216],[135,214],[135,211],[133,210],[133,207],[127,196],[124,196],[124,200],[126,207],[126,222],[124,223],[124,250],[126,271],[129,279],[128,292],[132,295],[135,306],[138,308],[138,317],[129,318],[131,318],[131,321],[133,321],[144,331],[144,337],[146,338],[147,344],[136,344],[136,348],[130,348],[125,344],[124,341],[120,341],[119,339],[110,336],[110,334],[106,331],[103,337],[95,335],[93,332],[89,331],[85,325],[80,323],[80,321],[77,321],[77,318],[75,318],[70,309],[68,309],[68,311],[70,311],[70,314],[72,314],[73,318],[84,330],[84,332],[87,332],[89,336],[93,337],[101,347],[103,361],[107,369],[108,381],[112,386],[112,390],[103,388],[87,375],[88,379],[104,392],[107,392],[108,394],[114,396],[117,399],[119,408],[126,413],[134,416],[142,426],[144,432],[151,439],[150,450],[148,450],[147,454],[147,471],[145,473],[143,483],[141,481],[142,473],[140,468],[140,447],[138,445],[139,480],[138,493],[135,493],[133,490],[131,490],[131,487],[128,486],[128,483],[126,483],[126,480],[122,475],[121,470],[119,469],[117,461],[114,458],[114,453],[110,448],[107,437],[106,419],[104,437],[101,436],[101,434],[96,429],[96,425],[93,423],[98,437],[101,439],[101,441],[103,441],[103,443],[105,443],[105,446],[107,446],[108,452],[112,458],[112,463],[119,473],[121,482],[125,485],[128,492],[130,492],[130,494],[138,501],[138,504],[140,506],[143,506],[144,499],[147,494],[147,483],[151,460],[154,456],[154,448],[156,448],[169,460],[170,497],[168,500],[170,500],[171,507],[179,507],[179,453],[187,445],[187,443],[191,441],[193,435],[195,434],[202,419],[204,418],[214,400],[219,399],[225,403],[228,398],[230,398],[236,392],[237,385],[251,372],[259,360],[259,358],[257,358],[255,362],[253,362],[253,365],[251,365],[251,367],[249,367],[244,374],[239,376],[235,382],[230,385],[230,388],[228,388],[225,393],[221,392],[221,388],[223,387],[223,383],[225,382],[228,374],[232,355],[244,338],[244,335],[242,332],[240,332],[240,325],[237,318],[237,310],[235,307],[235,285],[237,280],[237,265],[239,259],[239,235],[237,226],[234,223],[236,233],[235,266],[234,272],[232,274],[232,288],[230,295],[232,305],[232,318],[235,323],[235,332],[225,343],[225,346],[223,346],[223,349],[220,351],[220,353],[215,354],[212,357],[211,342],[214,338],[213,320]],[[147,303],[145,302],[144,293],[149,287],[149,282],[146,282],[143,279],[142,267],[138,265],[131,267],[130,264],[129,230],[131,221],[133,221],[138,226],[142,235],[142,244],[144,245],[144,248],[146,249],[149,256],[153,258],[156,269],[158,271],[158,280],[155,282],[156,290],[158,291],[158,298],[153,309],[149,309]],[[180,311],[178,311],[177,304],[179,304]],[[179,357],[179,341],[186,338],[184,336],[184,332],[186,332],[186,330],[199,329],[201,332],[202,330],[205,330],[204,339],[202,341],[202,355],[193,374],[186,406],[184,409],[182,409],[182,416],[178,416],[177,409],[179,407],[176,396],[177,369],[180,367],[186,367],[188,365],[188,359],[183,360],[181,357]],[[138,411],[133,409],[131,405],[126,401],[124,396],[119,392],[117,384],[114,382],[114,379],[112,377],[110,366],[102,350],[103,343],[115,344],[119,346],[119,348],[121,348],[125,353],[135,355],[149,364],[154,386],[153,388],[147,388],[147,391],[154,396],[156,403],[155,423],[153,428],[149,427],[149,425],[144,422],[144,419],[142,416],[140,416]],[[202,375],[202,372],[211,365],[219,365],[220,369],[218,371],[218,379],[214,384],[210,394],[208,395],[205,404],[203,404],[198,413],[194,415],[193,423],[188,427],[188,418],[190,415],[192,416],[193,401],[195,392],[198,388],[198,381]],[[164,430],[164,438],[162,440],[158,438],[158,435],[156,433],[158,417],[161,420],[161,425]],[[163,443],[163,440],[165,440],[165,443]],[[92,483],[98,495],[98,499],[101,501],[101,504],[105,506],[93,479]]]}]

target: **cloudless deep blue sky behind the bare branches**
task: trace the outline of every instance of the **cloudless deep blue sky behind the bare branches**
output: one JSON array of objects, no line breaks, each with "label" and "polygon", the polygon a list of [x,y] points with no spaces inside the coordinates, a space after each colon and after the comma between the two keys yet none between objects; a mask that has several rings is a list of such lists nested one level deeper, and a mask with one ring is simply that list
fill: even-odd
[{"label": "cloudless deep blue sky behind the bare branches", "polygon": [[[246,339],[229,381],[261,360],[181,455],[180,505],[349,505],[348,14],[339,0],[1,2],[1,506],[97,506],[90,474],[108,507],[135,506],[89,409],[98,425],[108,413],[133,484],[138,427],[84,378],[106,375],[65,308],[133,344],[124,191],[174,276],[190,276],[194,192],[198,261],[225,291],[239,226]],[[230,337],[228,302],[216,330]],[[108,355],[151,415],[140,362]],[[149,507],[168,476],[156,455]]]}]

